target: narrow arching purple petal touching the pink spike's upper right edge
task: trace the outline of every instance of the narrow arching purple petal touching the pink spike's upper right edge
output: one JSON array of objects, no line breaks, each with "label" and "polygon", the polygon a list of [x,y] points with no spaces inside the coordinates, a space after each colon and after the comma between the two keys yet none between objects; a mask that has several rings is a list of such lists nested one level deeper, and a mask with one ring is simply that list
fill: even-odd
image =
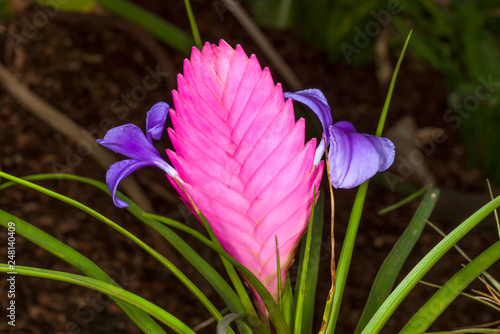
[{"label": "narrow arching purple petal touching the pink spike's upper right edge", "polygon": [[328,129],[332,125],[332,111],[325,95],[319,89],[306,89],[295,93],[283,93],[285,98],[291,98],[294,101],[304,103],[306,106],[318,116],[323,125],[323,133],[325,134],[326,142],[330,141],[330,132]]}]

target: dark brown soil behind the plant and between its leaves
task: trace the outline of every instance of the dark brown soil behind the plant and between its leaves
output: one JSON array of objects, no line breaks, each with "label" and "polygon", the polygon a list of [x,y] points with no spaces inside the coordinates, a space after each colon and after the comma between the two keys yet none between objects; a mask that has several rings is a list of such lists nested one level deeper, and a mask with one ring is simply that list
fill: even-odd
[{"label": "dark brown soil behind the plant and between its leaves", "polygon": [[[255,53],[263,66],[269,66],[261,51],[229,12],[220,13],[217,3],[198,1],[194,13],[204,40],[218,43],[241,44],[245,51]],[[181,1],[155,2],[148,5],[158,15],[189,31],[189,23]],[[220,6],[219,6],[220,8]],[[26,22],[33,22],[34,13],[41,9],[22,9],[17,18],[0,23],[0,59],[22,83],[49,104],[71,117],[96,138],[102,137],[109,127],[134,123],[144,128],[145,115],[158,101],[171,102],[170,90],[175,89],[175,73],[181,71],[181,55],[165,46],[154,52],[159,44],[151,43],[130,33],[130,24],[116,19],[101,20],[95,16],[70,16],[57,13],[47,24],[39,27],[25,42],[14,50],[11,34],[22,35]],[[128,27],[128,28],[127,28]],[[334,120],[349,120],[363,132],[373,133],[382,109],[386,87],[376,78],[376,67],[353,67],[345,62],[331,64],[327,56],[315,51],[304,41],[287,32],[266,31],[272,44],[293,68],[305,87],[320,88],[325,92],[333,110]],[[401,38],[401,45],[403,44]],[[371,48],[372,46],[370,46]],[[367,51],[368,52],[368,51]],[[395,54],[399,51],[396,50]],[[391,59],[395,63],[396,59]],[[122,102],[122,94],[130,95],[134,87],[161,64],[168,72],[154,89],[139,100]],[[282,82],[273,71],[276,82]],[[288,90],[284,84],[285,90]],[[117,107],[120,111],[116,112]],[[405,115],[412,116],[419,127],[439,127],[446,140],[436,144],[426,156],[426,165],[443,189],[443,202],[438,202],[432,221],[450,231],[488,200],[486,176],[469,168],[460,142],[460,133],[443,121],[447,109],[447,91],[441,76],[428,70],[425,64],[412,58],[405,59],[393,96],[387,128]],[[114,112],[114,111],[115,112]],[[319,132],[318,132],[319,133]],[[49,125],[36,118],[19,101],[0,89],[0,156],[5,172],[16,176],[36,173],[67,172],[104,181],[105,169],[92,158],[82,143],[69,140]],[[166,139],[159,147],[164,149]],[[398,173],[397,165],[393,170]],[[399,170],[401,172],[401,170]],[[405,175],[408,176],[408,175]],[[198,228],[196,219],[180,203],[163,173],[155,169],[141,169],[134,173],[148,194],[155,211]],[[325,178],[326,179],[326,178]],[[398,176],[399,183],[417,189],[421,184],[411,176]],[[149,244],[166,250],[166,245],[153,237],[152,231],[138,220],[112,205],[111,199],[89,186],[70,181],[43,182],[44,186],[85,203],[118,222],[121,226]],[[476,195],[477,194],[477,195]],[[497,192],[498,194],[498,192]],[[336,200],[337,255],[355,190],[338,190]],[[404,231],[418,203],[412,203],[389,214],[379,216],[377,211],[401,200],[405,194],[392,191],[384,177],[372,182],[366,201],[359,236],[355,246],[347,290],[344,295],[338,333],[352,333],[367,298],[371,282],[399,235]],[[465,199],[464,199],[465,198]],[[443,203],[443,204],[439,204]],[[99,264],[128,290],[152,301],[195,327],[210,316],[200,303],[154,259],[116,231],[94,218],[57,200],[26,188],[16,186],[0,193],[0,208],[16,215],[67,243]],[[325,215],[328,217],[329,213]],[[325,224],[325,230],[329,227]],[[494,222],[491,220],[474,229],[460,245],[471,257],[493,244]],[[192,241],[204,257],[220,267],[217,256]],[[325,237],[321,257],[321,273],[317,302],[317,321],[323,313],[329,282],[329,250]],[[407,273],[431,249],[440,237],[431,229],[424,231],[403,268]],[[6,262],[6,233],[0,231],[0,260]],[[223,308],[211,287],[183,261],[173,258],[180,268],[206,295]],[[16,263],[52,270],[78,273],[55,256],[18,236]],[[435,284],[443,284],[461,269],[465,260],[451,251],[425,277]],[[500,278],[495,265],[490,273]],[[295,270],[292,268],[292,276]],[[2,333],[140,333],[140,330],[106,296],[69,284],[38,278],[16,279],[16,327],[7,325],[5,310],[8,303],[6,276],[0,276],[0,307]],[[479,282],[474,288],[486,291]],[[396,333],[423,305],[435,290],[419,285],[408,296],[391,318],[384,333]],[[470,292],[470,289],[468,289]],[[459,297],[431,328],[433,331],[493,323],[500,315],[484,305]],[[215,332],[215,325],[198,331]]]}]

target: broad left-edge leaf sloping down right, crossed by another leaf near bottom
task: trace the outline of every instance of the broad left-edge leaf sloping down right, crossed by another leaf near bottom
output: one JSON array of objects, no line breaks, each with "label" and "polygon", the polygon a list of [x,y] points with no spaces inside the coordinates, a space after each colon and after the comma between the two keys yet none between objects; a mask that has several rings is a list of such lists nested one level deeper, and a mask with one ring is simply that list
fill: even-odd
[{"label": "broad left-edge leaf sloping down right, crossed by another leaf near bottom", "polygon": [[[13,222],[15,224],[16,234],[25,237],[61,260],[64,260],[75,268],[80,269],[85,275],[115,286],[119,286],[89,258],[28,222],[0,209],[0,225],[7,228],[8,222]],[[165,333],[165,331],[145,312],[120,300],[115,300],[115,302],[123,309],[130,319],[134,321],[140,329],[142,329],[144,333]]]}]

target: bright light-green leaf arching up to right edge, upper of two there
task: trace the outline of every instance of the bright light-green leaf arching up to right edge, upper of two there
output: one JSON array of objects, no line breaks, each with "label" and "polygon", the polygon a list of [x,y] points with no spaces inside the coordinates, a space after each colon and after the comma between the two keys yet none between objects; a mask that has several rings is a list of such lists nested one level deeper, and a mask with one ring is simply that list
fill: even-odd
[{"label": "bright light-green leaf arching up to right edge, upper of two there", "polygon": [[474,226],[479,224],[486,216],[500,206],[500,196],[488,202],[481,209],[472,214],[462,224],[456,227],[446,238],[439,242],[427,255],[411,270],[403,281],[387,297],[370,322],[363,330],[363,334],[379,333],[389,317],[401,304],[403,299],[418,284],[424,275],[437,263],[437,261],[465,236]]}]

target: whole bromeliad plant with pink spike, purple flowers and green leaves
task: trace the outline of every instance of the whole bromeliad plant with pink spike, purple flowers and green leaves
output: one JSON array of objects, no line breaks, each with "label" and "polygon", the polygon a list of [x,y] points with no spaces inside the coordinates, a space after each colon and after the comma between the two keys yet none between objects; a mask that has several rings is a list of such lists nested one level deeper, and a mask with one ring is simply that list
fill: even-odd
[{"label": "whole bromeliad plant with pink spike, purple flowers and green leaves", "polygon": [[[0,177],[70,203],[129,237],[168,268],[200,300],[219,322],[218,333],[238,330],[241,333],[299,334],[312,332],[323,218],[320,187],[326,162],[332,186],[360,186],[336,271],[332,266],[332,290],[320,329],[320,333],[333,333],[368,185],[365,181],[386,170],[394,160],[394,145],[380,137],[388,102],[376,136],[358,133],[348,122],[333,123],[330,107],[321,91],[283,93],[281,85],[274,84],[269,69],[262,69],[255,56],[248,57],[240,46],[233,49],[224,41],[218,46],[207,43],[201,51],[193,48],[190,59],[184,62],[183,74],[177,79],[174,108],[163,102],[154,105],[147,113],[145,134],[137,126],[127,124],[110,130],[104,139],[98,140],[101,145],[129,158],[109,168],[106,182],[114,204],[129,210],[179,250],[222,297],[230,312],[228,315],[223,317],[189,278],[162,254],[116,223],[28,180],[3,172]],[[311,139],[304,143],[305,121],[295,120],[293,101],[305,104],[320,119],[323,134],[318,141]],[[167,132],[174,148],[166,152],[170,162],[165,161],[153,146],[153,139],[162,138],[168,115],[173,126]],[[118,184],[144,166],[156,166],[166,173],[186,206],[199,217],[210,239],[178,222],[147,214],[118,193]],[[51,177],[63,176],[35,176],[32,179]],[[105,185],[96,181],[74,176],[65,178],[106,190]],[[2,187],[9,185],[6,183]],[[399,269],[418,239],[436,199],[437,190],[429,189],[408,230],[389,255],[387,263],[390,266],[382,266],[357,333],[378,333],[436,261],[500,204],[500,198],[496,198],[462,223],[393,290]],[[8,222],[14,223],[16,233],[71,263],[86,276],[16,266],[18,274],[71,282],[104,292],[145,333],[165,333],[150,316],[176,333],[194,333],[172,314],[118,287],[75,250],[27,222],[0,211],[0,224],[11,227]],[[219,253],[232,285],[171,227],[196,236]],[[301,240],[299,277],[293,292],[288,269]],[[457,274],[451,293],[449,288],[439,290],[436,298],[440,305],[451,302],[471,279],[498,258],[500,242]],[[11,269],[7,264],[0,264],[2,272]],[[500,290],[496,281],[491,281],[491,285]],[[404,332],[425,331],[438,316],[436,312],[431,315],[426,312],[433,307],[431,299],[429,306],[408,322]],[[233,321],[237,327],[231,328]]]}]

